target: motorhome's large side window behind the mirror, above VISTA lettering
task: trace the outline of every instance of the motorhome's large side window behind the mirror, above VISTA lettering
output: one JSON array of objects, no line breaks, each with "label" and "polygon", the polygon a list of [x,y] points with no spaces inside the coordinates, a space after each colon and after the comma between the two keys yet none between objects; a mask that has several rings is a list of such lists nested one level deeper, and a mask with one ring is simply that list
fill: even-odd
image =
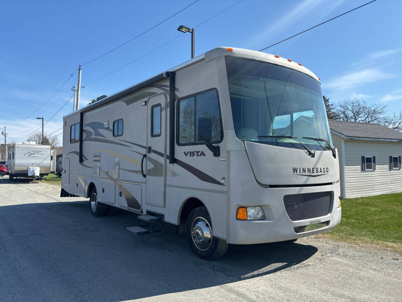
[{"label": "motorhome's large side window behind the mirror, above VISTA lettering", "polygon": [[209,117],[212,126],[211,143],[219,143],[223,139],[221,111],[216,89],[198,93],[178,101],[177,105],[177,144],[203,144],[195,141],[196,124],[199,118]]}]

